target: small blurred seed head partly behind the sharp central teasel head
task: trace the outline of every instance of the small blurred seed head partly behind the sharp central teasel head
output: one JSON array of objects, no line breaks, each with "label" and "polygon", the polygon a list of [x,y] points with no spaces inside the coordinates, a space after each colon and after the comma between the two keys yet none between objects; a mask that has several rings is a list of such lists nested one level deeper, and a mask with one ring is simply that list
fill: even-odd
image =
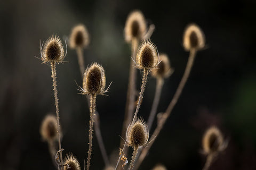
[{"label": "small blurred seed head partly behind the sharp central teasel head", "polygon": [[159,61],[161,62],[153,69],[152,76],[155,78],[169,77],[173,73],[173,69],[170,66],[168,56],[166,54],[160,54]]}]

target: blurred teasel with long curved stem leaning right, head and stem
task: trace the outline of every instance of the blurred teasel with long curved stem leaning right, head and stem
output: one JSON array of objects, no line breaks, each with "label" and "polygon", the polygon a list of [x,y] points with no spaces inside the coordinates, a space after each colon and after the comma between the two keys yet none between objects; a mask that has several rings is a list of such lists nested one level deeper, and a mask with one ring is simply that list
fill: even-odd
[{"label": "blurred teasel with long curved stem leaning right, head and stem", "polygon": [[142,149],[141,154],[140,154],[137,162],[135,163],[134,169],[138,169],[139,166],[141,165],[142,161],[145,159],[145,157],[146,157],[149,149],[153,145],[156,137],[159,135],[160,131],[163,129],[163,126],[164,126],[167,118],[170,116],[174,106],[177,104],[177,101],[181,95],[183,88],[185,87],[185,84],[188,80],[190,71],[194,64],[196,52],[198,50],[202,50],[205,47],[204,33],[201,30],[201,28],[198,27],[197,24],[194,24],[194,23],[189,24],[185,28],[185,31],[183,34],[183,47],[185,48],[186,51],[189,51],[189,57],[188,57],[188,62],[187,62],[185,72],[181,78],[179,86],[178,86],[177,90],[175,91],[175,94],[174,94],[169,106],[167,107],[165,113],[163,113],[161,118],[158,120],[156,129],[154,130],[152,136],[149,139],[150,143],[148,144],[147,147]]}]

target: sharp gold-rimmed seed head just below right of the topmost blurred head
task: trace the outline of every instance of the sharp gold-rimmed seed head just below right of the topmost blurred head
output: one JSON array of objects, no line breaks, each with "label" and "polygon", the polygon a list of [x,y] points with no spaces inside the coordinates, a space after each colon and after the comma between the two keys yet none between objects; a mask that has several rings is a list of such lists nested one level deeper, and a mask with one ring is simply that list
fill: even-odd
[{"label": "sharp gold-rimmed seed head just below right of the topmost blurred head", "polygon": [[136,63],[138,69],[154,69],[158,62],[156,46],[150,41],[143,41],[138,49]]}]

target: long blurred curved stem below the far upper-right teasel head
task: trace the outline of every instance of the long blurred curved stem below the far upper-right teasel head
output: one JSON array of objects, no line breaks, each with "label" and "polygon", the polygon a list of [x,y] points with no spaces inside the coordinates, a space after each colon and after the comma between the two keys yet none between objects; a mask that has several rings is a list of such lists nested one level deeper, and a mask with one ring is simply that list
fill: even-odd
[{"label": "long blurred curved stem below the far upper-right teasel head", "polygon": [[189,54],[189,58],[188,58],[188,62],[187,62],[187,66],[186,66],[186,69],[185,69],[185,72],[183,74],[183,77],[180,81],[180,84],[169,104],[169,106],[167,107],[165,113],[163,114],[161,120],[159,120],[158,124],[157,124],[157,127],[153,133],[153,135],[151,136],[151,138],[149,139],[149,143],[148,143],[148,146],[143,148],[142,151],[141,151],[141,155],[140,157],[138,158],[138,162],[135,164],[135,168],[134,169],[138,169],[140,164],[142,163],[142,161],[145,159],[149,149],[151,148],[151,146],[153,145],[156,137],[158,136],[159,132],[162,130],[167,118],[170,116],[171,112],[172,112],[172,109],[174,108],[175,104],[177,103],[180,95],[181,95],[181,92],[188,80],[188,77],[189,77],[189,73],[191,71],[191,68],[193,66],[193,63],[194,63],[194,60],[195,60],[195,56],[196,56],[196,50],[195,49],[191,49],[190,50],[190,54]]}]

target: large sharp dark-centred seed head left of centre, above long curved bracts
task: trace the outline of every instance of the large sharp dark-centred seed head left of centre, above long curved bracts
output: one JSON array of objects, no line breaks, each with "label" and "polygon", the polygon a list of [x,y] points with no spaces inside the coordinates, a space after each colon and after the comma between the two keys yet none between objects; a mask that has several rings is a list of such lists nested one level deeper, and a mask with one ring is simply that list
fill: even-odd
[{"label": "large sharp dark-centred seed head left of centre, above long curved bracts", "polygon": [[92,63],[84,73],[84,94],[103,95],[105,92],[106,77],[103,67],[98,63]]}]

